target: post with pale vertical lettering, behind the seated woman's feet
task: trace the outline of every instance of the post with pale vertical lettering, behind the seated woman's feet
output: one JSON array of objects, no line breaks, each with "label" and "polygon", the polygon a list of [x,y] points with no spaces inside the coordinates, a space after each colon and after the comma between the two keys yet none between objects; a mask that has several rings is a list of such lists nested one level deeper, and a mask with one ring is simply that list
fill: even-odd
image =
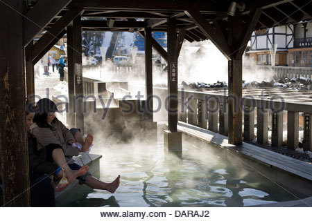
[{"label": "post with pale vertical lettering, behind the seated woman's feet", "polygon": [[73,110],[76,111],[76,127],[84,134],[83,120],[83,55],[82,55],[81,17],[73,19],[73,81],[75,97]]}]

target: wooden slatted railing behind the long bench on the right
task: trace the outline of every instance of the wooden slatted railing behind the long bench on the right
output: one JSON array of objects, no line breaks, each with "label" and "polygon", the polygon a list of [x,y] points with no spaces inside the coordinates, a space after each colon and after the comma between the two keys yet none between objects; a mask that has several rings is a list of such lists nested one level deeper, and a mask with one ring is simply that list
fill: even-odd
[{"label": "wooden slatted railing behind the long bench on the right", "polygon": [[[162,93],[163,90],[166,89],[153,88],[153,92],[156,94]],[[229,98],[227,97],[227,90],[224,93],[221,90],[218,92],[216,90],[211,92],[209,90],[202,92],[179,90],[179,121],[227,136]],[[302,93],[302,97],[306,96],[306,101],[298,97],[297,101],[291,102],[288,97],[296,99],[296,95],[300,95],[300,93],[293,91],[282,102],[281,99],[276,99],[277,97],[275,99],[268,99],[268,97],[261,99],[257,90],[263,89],[245,90],[245,95],[248,96],[244,97],[245,95],[243,95],[243,140],[248,142],[257,140],[258,144],[268,145],[270,143],[271,146],[278,147],[286,145],[288,149],[294,150],[299,147],[299,121],[301,119],[302,130],[304,131],[304,150],[312,151],[312,92]],[[287,93],[284,90],[277,93],[278,90],[277,88],[267,88],[263,91],[264,95],[272,93],[271,96],[282,96]],[[249,97],[250,95],[254,98]],[[186,106],[182,111],[182,104],[191,96],[193,98],[189,100],[188,105],[192,111],[187,111]],[[183,100],[182,97],[184,97]],[[300,102],[300,99],[302,99],[302,102]],[[281,111],[278,112],[278,110]],[[285,120],[286,122],[284,122]],[[284,127],[288,131],[286,143],[285,140],[283,143]],[[255,128],[257,128],[256,136],[254,135]],[[269,131],[271,131],[271,139],[268,136]]]}]

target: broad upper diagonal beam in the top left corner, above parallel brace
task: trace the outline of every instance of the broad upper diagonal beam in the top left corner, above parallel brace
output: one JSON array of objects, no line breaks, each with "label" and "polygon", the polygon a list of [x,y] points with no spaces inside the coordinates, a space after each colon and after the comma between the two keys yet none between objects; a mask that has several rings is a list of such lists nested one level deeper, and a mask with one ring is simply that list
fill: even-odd
[{"label": "broad upper diagonal beam in the top left corner, above parallel brace", "polygon": [[71,0],[50,0],[50,1],[38,1],[34,8],[29,10],[24,19],[24,44],[25,46],[31,42],[31,40],[42,29],[50,23],[53,18],[67,6]]}]

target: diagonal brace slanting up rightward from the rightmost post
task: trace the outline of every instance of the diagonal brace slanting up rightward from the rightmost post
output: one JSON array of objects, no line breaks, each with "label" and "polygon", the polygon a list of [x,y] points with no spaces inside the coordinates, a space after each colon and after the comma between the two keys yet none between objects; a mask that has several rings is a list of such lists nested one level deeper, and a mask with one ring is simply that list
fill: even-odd
[{"label": "diagonal brace slanting up rightward from the rightmost post", "polygon": [[250,40],[252,32],[254,31],[254,28],[259,20],[261,12],[261,8],[257,8],[256,10],[252,10],[250,12],[249,17],[243,26],[243,31],[239,36],[239,41],[237,45],[238,48],[236,48],[236,52],[234,54],[235,59],[241,59],[241,57],[243,56],[248,41]]}]

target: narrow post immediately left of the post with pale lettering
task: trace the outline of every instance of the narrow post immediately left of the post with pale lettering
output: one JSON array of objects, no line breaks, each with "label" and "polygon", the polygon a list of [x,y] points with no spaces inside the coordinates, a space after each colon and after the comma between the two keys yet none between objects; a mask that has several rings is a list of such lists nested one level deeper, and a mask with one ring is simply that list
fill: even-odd
[{"label": "narrow post immediately left of the post with pale lettering", "polygon": [[73,73],[73,26],[67,26],[67,70],[68,70],[68,112],[67,124],[76,127],[76,113],[73,112],[73,96],[75,95]]}]

